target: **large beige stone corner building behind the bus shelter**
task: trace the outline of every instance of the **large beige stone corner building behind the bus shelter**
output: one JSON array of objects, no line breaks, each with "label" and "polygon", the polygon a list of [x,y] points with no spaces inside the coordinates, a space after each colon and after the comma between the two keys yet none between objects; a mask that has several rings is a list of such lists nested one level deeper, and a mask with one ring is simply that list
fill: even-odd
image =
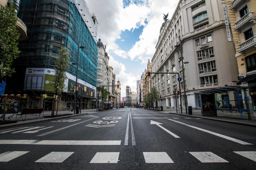
[{"label": "large beige stone corner building behind the bus shelter", "polygon": [[[170,20],[161,25],[156,52],[151,60],[152,72],[178,72],[182,78],[179,87],[177,74],[152,75],[153,86],[162,96],[163,108],[176,107],[173,91],[177,89],[181,91],[182,107],[185,106],[184,86],[187,105],[200,108],[200,91],[236,85],[238,69],[233,37],[227,31],[229,16],[226,21],[222,3],[225,1],[180,0]],[[181,53],[184,62],[189,62],[184,64],[185,79]],[[228,97],[236,100],[237,95],[230,92]],[[221,100],[221,95],[216,94],[215,98]],[[226,105],[229,107],[228,103]]]}]

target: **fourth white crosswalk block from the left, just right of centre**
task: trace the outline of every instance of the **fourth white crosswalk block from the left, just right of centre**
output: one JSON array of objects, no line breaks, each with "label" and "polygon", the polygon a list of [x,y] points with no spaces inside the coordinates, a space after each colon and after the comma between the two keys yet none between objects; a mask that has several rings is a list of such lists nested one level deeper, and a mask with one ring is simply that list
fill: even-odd
[{"label": "fourth white crosswalk block from the left, just right of centre", "polygon": [[146,163],[174,163],[166,152],[143,152]]}]

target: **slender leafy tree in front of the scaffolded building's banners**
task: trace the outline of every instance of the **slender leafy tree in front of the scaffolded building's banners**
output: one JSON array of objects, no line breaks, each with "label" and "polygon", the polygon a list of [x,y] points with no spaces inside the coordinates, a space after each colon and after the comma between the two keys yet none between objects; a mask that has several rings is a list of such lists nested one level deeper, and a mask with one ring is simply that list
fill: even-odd
[{"label": "slender leafy tree in front of the scaffolded building's banners", "polygon": [[[55,62],[55,76],[53,79],[53,88],[55,92],[55,100],[57,100],[57,95],[59,95],[64,87],[65,87],[65,80],[68,78],[66,75],[66,71],[68,70],[69,64],[69,56],[67,53],[66,47],[61,47],[59,50],[59,57],[56,59]],[[55,102],[53,104],[52,116],[54,114]]]}]

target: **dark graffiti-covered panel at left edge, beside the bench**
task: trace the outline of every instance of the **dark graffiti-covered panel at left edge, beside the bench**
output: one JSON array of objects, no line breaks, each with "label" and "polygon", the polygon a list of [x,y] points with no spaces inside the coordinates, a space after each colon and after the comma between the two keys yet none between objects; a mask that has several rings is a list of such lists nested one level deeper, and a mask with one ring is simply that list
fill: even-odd
[{"label": "dark graffiti-covered panel at left edge, beside the bench", "polygon": [[[0,96],[0,114],[4,113],[4,102],[5,96]],[[17,96],[7,96],[6,101],[6,114],[18,113],[20,105],[20,97]]]}]

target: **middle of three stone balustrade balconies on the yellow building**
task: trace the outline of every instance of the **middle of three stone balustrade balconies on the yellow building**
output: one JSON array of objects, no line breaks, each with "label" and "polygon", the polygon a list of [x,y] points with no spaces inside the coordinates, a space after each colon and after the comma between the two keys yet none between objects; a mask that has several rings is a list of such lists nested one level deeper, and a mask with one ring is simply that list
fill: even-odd
[{"label": "middle of three stone balustrade balconies on the yellow building", "polygon": [[248,12],[245,16],[240,18],[234,25],[234,31],[241,32],[241,29],[246,25],[253,23],[255,24],[256,17],[254,16],[254,12]]}]

